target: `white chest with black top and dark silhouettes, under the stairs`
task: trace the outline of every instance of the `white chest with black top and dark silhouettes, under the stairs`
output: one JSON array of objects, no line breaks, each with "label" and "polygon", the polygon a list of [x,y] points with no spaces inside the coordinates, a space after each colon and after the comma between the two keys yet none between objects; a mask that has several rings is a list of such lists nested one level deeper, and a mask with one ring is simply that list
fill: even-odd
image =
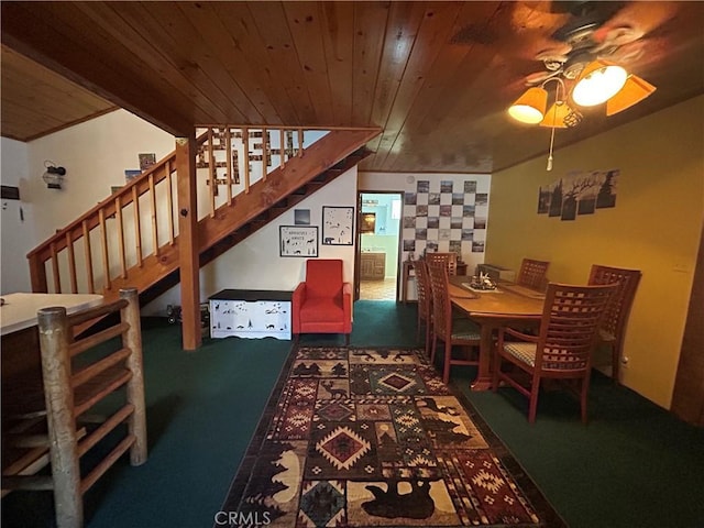
[{"label": "white chest with black top and dark silhouettes, under the stairs", "polygon": [[223,289],[209,298],[210,337],[290,339],[290,292]]}]

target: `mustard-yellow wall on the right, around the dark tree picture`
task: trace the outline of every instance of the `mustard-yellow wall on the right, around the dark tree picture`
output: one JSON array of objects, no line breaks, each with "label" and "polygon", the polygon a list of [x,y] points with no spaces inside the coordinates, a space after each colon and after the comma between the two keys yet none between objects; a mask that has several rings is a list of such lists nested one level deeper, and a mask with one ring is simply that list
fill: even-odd
[{"label": "mustard-yellow wall on the right, around the dark tree picture", "polygon": [[[592,264],[638,268],[623,382],[669,408],[704,216],[704,97],[493,175],[486,262],[551,262],[553,282]],[[558,133],[560,133],[558,131]],[[546,147],[548,140],[546,139]],[[620,170],[616,207],[561,221],[537,215],[540,186],[571,170]],[[704,329],[703,329],[704,331]]]}]

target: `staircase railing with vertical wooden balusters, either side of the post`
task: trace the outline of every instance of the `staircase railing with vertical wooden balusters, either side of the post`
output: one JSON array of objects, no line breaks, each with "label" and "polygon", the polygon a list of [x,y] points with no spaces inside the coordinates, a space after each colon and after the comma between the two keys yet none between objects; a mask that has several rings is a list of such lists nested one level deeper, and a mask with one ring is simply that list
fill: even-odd
[{"label": "staircase railing with vertical wooden balusters, either side of the post", "polygon": [[[324,131],[209,127],[197,138],[198,218],[232,207],[239,193],[266,179]],[[175,152],[28,254],[32,290],[106,293],[139,273],[145,258],[174,245],[178,220]],[[202,178],[202,179],[201,179]],[[207,197],[207,199],[206,199]]]}]

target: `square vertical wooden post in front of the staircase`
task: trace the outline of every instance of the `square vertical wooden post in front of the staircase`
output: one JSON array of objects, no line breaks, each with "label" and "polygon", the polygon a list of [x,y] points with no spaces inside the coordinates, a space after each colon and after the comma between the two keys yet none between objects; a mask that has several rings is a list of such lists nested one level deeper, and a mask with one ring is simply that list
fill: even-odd
[{"label": "square vertical wooden post in front of the staircase", "polygon": [[196,193],[196,136],[176,139],[178,189],[178,265],[184,350],[200,346],[200,277],[198,262],[198,197]]}]

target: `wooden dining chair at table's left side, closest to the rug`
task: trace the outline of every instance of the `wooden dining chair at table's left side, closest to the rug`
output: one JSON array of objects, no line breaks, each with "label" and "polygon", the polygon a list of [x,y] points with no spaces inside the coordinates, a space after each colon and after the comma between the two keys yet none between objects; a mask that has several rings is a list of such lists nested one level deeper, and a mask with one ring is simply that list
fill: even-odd
[{"label": "wooden dining chair at table's left side, closest to the rug", "polygon": [[[435,365],[438,340],[444,343],[442,363],[442,381],[450,381],[450,367],[452,365],[479,365],[479,346],[481,343],[481,330],[466,317],[453,317],[452,304],[449,294],[449,272],[443,262],[429,261],[428,275],[432,290],[432,336],[430,363]],[[465,359],[452,358],[452,348],[459,346],[465,350]],[[476,352],[476,359],[471,354]]]}]

